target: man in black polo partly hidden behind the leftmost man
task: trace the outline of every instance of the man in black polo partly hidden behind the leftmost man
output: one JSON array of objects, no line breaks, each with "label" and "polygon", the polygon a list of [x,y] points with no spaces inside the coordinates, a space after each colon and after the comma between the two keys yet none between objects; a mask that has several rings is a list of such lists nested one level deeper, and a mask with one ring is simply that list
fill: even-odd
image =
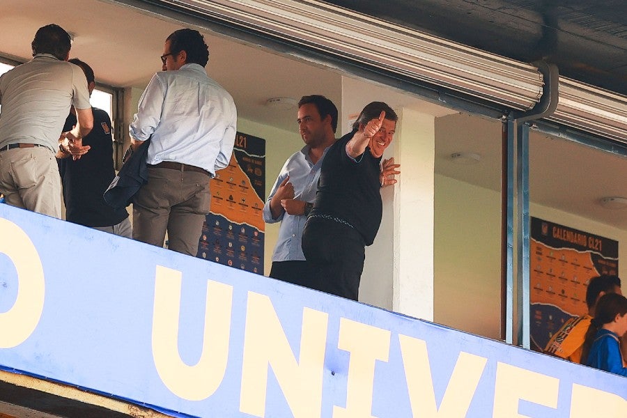
[{"label": "man in black polo partly hidden behind the leftmost man", "polygon": [[[95,87],[93,70],[79,59],[70,59],[71,63],[82,68],[87,78],[89,94]],[[132,227],[125,208],[114,209],[102,198],[104,190],[115,177],[113,165],[113,141],[111,137],[111,119],[106,111],[92,108],[93,130],[83,137],[83,146],[91,147],[79,160],[63,158],[59,161],[59,173],[63,183],[65,201],[65,219],[75,224],[90,226],[126,238],[132,238]],[[74,108],[67,119],[63,132],[76,124]],[[64,157],[69,157],[69,150]]]}]

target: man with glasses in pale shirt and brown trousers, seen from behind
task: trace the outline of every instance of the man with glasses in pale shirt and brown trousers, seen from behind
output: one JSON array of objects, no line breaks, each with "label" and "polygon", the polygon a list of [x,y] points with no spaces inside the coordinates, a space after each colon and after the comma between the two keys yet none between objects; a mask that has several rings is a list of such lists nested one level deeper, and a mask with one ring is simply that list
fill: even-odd
[{"label": "man with glasses in pale shirt and brown trousers, seen from behind", "polygon": [[148,145],[148,183],[133,198],[133,238],[196,256],[209,180],[229,165],[237,111],[231,95],[208,77],[209,49],[192,29],[165,41],[162,72],[150,80],[129,127],[132,149]]}]

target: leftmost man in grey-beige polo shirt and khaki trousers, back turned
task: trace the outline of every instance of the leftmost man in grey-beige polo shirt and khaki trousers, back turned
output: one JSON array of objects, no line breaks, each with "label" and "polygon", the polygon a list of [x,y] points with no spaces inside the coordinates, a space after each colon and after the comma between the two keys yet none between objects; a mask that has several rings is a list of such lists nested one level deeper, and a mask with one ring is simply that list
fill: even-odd
[{"label": "leftmost man in grey-beige polo shirt and khaki trousers, back turned", "polygon": [[0,77],[0,192],[12,206],[61,218],[59,134],[74,105],[77,124],[65,143],[72,155],[84,154],[91,104],[85,75],[66,62],[70,35],[61,26],[41,27],[31,46],[33,59]]}]

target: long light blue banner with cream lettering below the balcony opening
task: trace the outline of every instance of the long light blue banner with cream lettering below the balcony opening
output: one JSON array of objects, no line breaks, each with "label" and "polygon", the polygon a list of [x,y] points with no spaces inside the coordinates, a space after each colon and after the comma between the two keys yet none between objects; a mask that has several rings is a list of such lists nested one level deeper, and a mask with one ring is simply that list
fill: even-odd
[{"label": "long light blue banner with cream lettering below the balcony opening", "polygon": [[627,416],[620,376],[7,205],[0,366],[178,417]]}]

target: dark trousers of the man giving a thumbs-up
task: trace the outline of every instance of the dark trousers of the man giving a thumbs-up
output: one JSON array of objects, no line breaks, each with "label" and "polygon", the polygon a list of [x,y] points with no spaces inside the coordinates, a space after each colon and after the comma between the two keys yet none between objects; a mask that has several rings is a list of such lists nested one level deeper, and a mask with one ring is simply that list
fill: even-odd
[{"label": "dark trousers of the man giving a thumbs-up", "polygon": [[316,274],[316,289],[357,300],[364,270],[365,244],[354,228],[330,219],[310,218],[302,251]]}]

